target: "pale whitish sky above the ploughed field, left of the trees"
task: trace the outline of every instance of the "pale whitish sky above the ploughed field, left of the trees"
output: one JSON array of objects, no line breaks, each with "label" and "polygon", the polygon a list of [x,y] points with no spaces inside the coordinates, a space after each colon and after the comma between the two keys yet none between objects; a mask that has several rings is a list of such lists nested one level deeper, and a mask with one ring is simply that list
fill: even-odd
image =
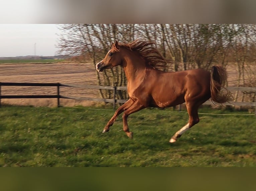
[{"label": "pale whitish sky above the ploughed field, left of the trees", "polygon": [[57,34],[56,24],[0,24],[0,57],[54,56]]}]

